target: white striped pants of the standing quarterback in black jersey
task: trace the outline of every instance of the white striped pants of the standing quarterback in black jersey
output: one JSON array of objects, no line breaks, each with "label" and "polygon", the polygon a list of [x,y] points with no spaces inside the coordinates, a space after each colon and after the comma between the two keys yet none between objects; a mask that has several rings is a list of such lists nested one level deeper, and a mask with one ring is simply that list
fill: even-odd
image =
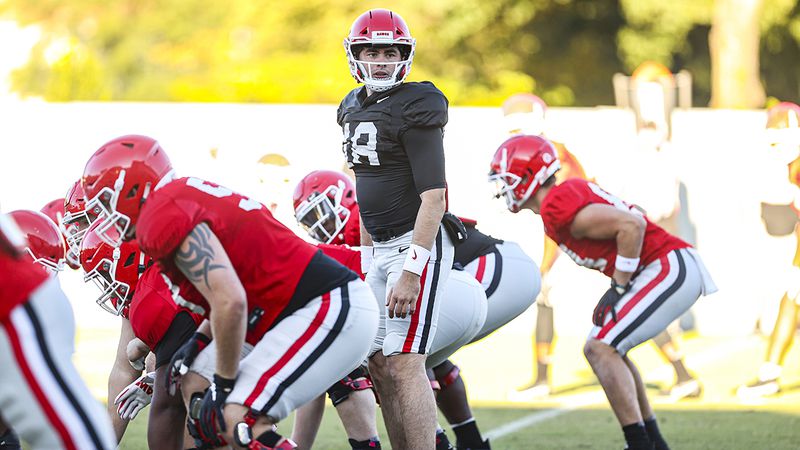
[{"label": "white striped pants of the standing quarterback in black jersey", "polygon": [[440,298],[453,267],[454,257],[453,243],[441,225],[434,239],[428,265],[419,279],[416,311],[405,318],[389,318],[386,310],[386,296],[403,273],[403,263],[413,233],[412,230],[395,239],[373,243],[372,267],[367,273],[367,283],[375,294],[381,316],[370,355],[379,350],[383,351],[384,356],[400,353],[428,354],[436,335]]}]

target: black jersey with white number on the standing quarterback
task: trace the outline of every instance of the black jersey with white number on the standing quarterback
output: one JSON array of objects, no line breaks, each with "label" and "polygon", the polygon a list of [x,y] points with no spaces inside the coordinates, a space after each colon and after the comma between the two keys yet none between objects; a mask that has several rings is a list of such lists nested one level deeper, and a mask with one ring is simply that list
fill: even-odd
[{"label": "black jersey with white number on the standing quarterback", "polygon": [[430,82],[403,83],[369,98],[364,87],[356,88],[339,105],[342,151],[356,174],[361,219],[371,235],[412,229],[419,194],[445,187],[447,107]]}]

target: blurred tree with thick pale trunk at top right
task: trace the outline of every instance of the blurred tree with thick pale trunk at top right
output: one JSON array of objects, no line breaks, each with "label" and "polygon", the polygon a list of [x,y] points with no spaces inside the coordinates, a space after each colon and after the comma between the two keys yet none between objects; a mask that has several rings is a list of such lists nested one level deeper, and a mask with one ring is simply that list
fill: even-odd
[{"label": "blurred tree with thick pale trunk at top right", "polygon": [[[761,107],[764,88],[769,95],[796,99],[798,79],[785,74],[800,70],[798,1],[768,0],[761,8],[762,2],[621,0],[626,25],[618,41],[627,73],[648,59],[673,72],[687,69],[698,105]],[[712,87],[726,89],[713,102]]]}]

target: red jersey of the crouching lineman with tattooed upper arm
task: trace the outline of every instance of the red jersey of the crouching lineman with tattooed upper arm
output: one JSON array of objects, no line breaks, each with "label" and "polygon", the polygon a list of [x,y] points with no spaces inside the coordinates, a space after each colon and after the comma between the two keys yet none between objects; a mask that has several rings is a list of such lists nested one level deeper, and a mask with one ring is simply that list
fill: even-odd
[{"label": "red jersey of the crouching lineman with tattooed upper arm", "polygon": [[[258,342],[295,292],[317,249],[275,220],[261,203],[198,178],[166,184],[142,207],[136,238],[142,250],[159,260],[174,284],[186,281],[173,255],[200,223],[206,223],[222,243],[246,293],[248,315],[256,308],[261,319],[247,333]],[[209,311],[205,299],[199,306]]]}]

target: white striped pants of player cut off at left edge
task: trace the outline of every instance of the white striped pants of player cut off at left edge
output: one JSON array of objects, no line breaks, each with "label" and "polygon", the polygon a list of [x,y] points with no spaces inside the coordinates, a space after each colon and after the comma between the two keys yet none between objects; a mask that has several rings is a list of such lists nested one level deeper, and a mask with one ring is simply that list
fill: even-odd
[{"label": "white striped pants of player cut off at left edge", "polygon": [[75,321],[58,280],[0,322],[0,414],[33,449],[113,449],[111,421],[72,365]]}]

